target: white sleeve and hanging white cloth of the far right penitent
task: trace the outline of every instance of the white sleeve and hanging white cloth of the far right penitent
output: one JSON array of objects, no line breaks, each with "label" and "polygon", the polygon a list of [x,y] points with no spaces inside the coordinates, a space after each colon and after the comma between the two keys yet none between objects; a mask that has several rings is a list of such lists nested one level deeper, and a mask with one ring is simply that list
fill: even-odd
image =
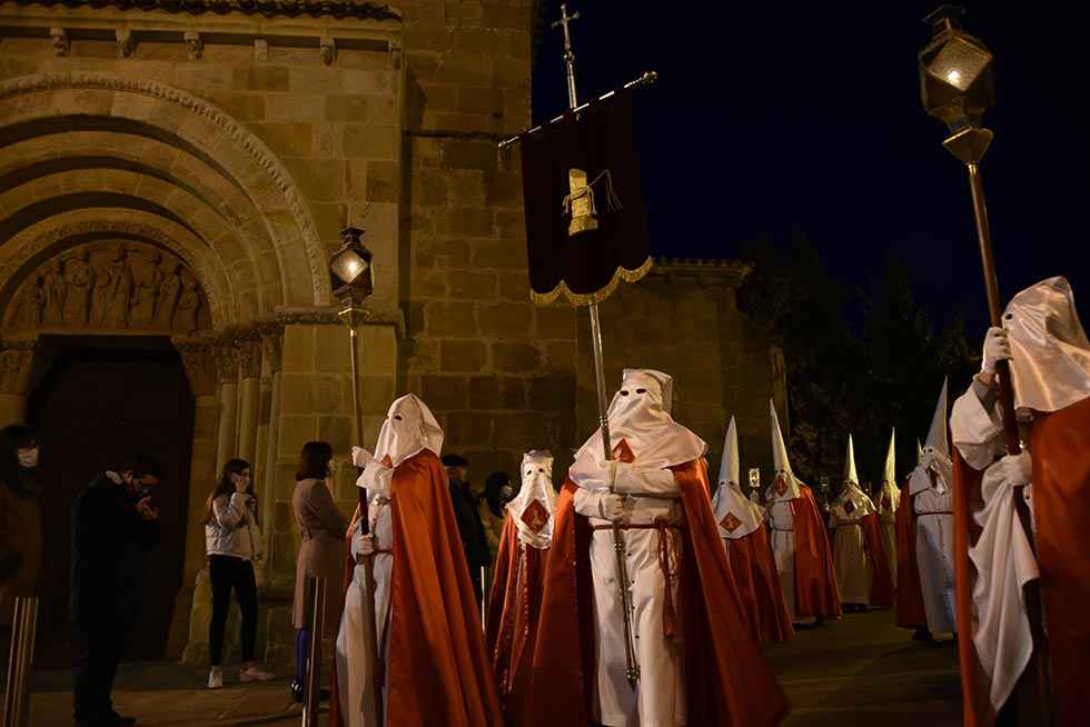
[{"label": "white sleeve and hanging white cloth of the far right penitent", "polygon": [[[1025,584],[1040,577],[1037,558],[1015,510],[1018,490],[1005,480],[995,458],[1003,450],[998,409],[989,412],[969,389],[955,402],[950,418],[954,446],[965,461],[984,470],[980,484],[983,507],[973,518],[982,530],[969,558],[977,569],[972,635],[981,667],[991,679],[989,699],[1001,707],[1013,691],[1033,654],[1033,635],[1022,600]],[[1022,488],[1031,497],[1032,485]],[[1032,514],[1033,508],[1030,507]]]}]

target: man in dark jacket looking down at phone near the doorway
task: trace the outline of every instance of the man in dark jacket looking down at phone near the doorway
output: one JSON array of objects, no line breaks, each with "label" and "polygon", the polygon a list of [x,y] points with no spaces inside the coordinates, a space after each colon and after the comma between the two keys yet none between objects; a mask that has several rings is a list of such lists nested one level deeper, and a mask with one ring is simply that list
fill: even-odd
[{"label": "man in dark jacket looking down at phone near the doorway", "polygon": [[110,691],[136,621],[143,557],[159,542],[151,490],[159,464],[141,455],[121,475],[96,477],[72,505],[70,618],[79,640],[73,686],[77,727],[136,724],[113,710]]}]

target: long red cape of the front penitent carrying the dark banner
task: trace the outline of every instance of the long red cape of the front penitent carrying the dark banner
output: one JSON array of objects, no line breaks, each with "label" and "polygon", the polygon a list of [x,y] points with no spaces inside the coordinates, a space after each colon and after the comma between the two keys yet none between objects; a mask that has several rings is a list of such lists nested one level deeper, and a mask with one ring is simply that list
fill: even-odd
[{"label": "long red cape of the front penitent carrying the dark banner", "polygon": [[[746,626],[731,565],[720,541],[703,458],[671,468],[685,512],[681,569],[686,701],[693,724],[763,727],[777,724],[786,699]],[[589,724],[594,694],[591,528],[576,515],[576,486],[556,500],[553,547],[534,650],[529,727]]]}]

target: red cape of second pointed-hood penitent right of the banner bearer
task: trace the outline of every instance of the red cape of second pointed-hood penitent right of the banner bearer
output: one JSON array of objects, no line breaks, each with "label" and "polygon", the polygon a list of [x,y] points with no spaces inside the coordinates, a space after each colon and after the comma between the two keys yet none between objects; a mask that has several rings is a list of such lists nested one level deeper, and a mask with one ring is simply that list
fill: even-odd
[{"label": "red cape of second pointed-hood penitent right of the banner bearer", "polygon": [[841,615],[833,550],[818,502],[809,487],[799,484],[802,497],[791,500],[795,529],[795,615],[836,618]]}]

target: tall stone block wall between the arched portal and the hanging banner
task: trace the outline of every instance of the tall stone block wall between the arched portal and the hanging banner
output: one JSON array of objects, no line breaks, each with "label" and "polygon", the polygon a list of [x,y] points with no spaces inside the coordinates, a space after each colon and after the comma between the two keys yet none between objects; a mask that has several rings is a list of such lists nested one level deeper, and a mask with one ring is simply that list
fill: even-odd
[{"label": "tall stone block wall between the arched portal and the hanging banner", "polygon": [[399,371],[477,485],[576,436],[575,311],[529,300],[517,150],[496,147],[529,122],[532,4],[406,7]]}]

